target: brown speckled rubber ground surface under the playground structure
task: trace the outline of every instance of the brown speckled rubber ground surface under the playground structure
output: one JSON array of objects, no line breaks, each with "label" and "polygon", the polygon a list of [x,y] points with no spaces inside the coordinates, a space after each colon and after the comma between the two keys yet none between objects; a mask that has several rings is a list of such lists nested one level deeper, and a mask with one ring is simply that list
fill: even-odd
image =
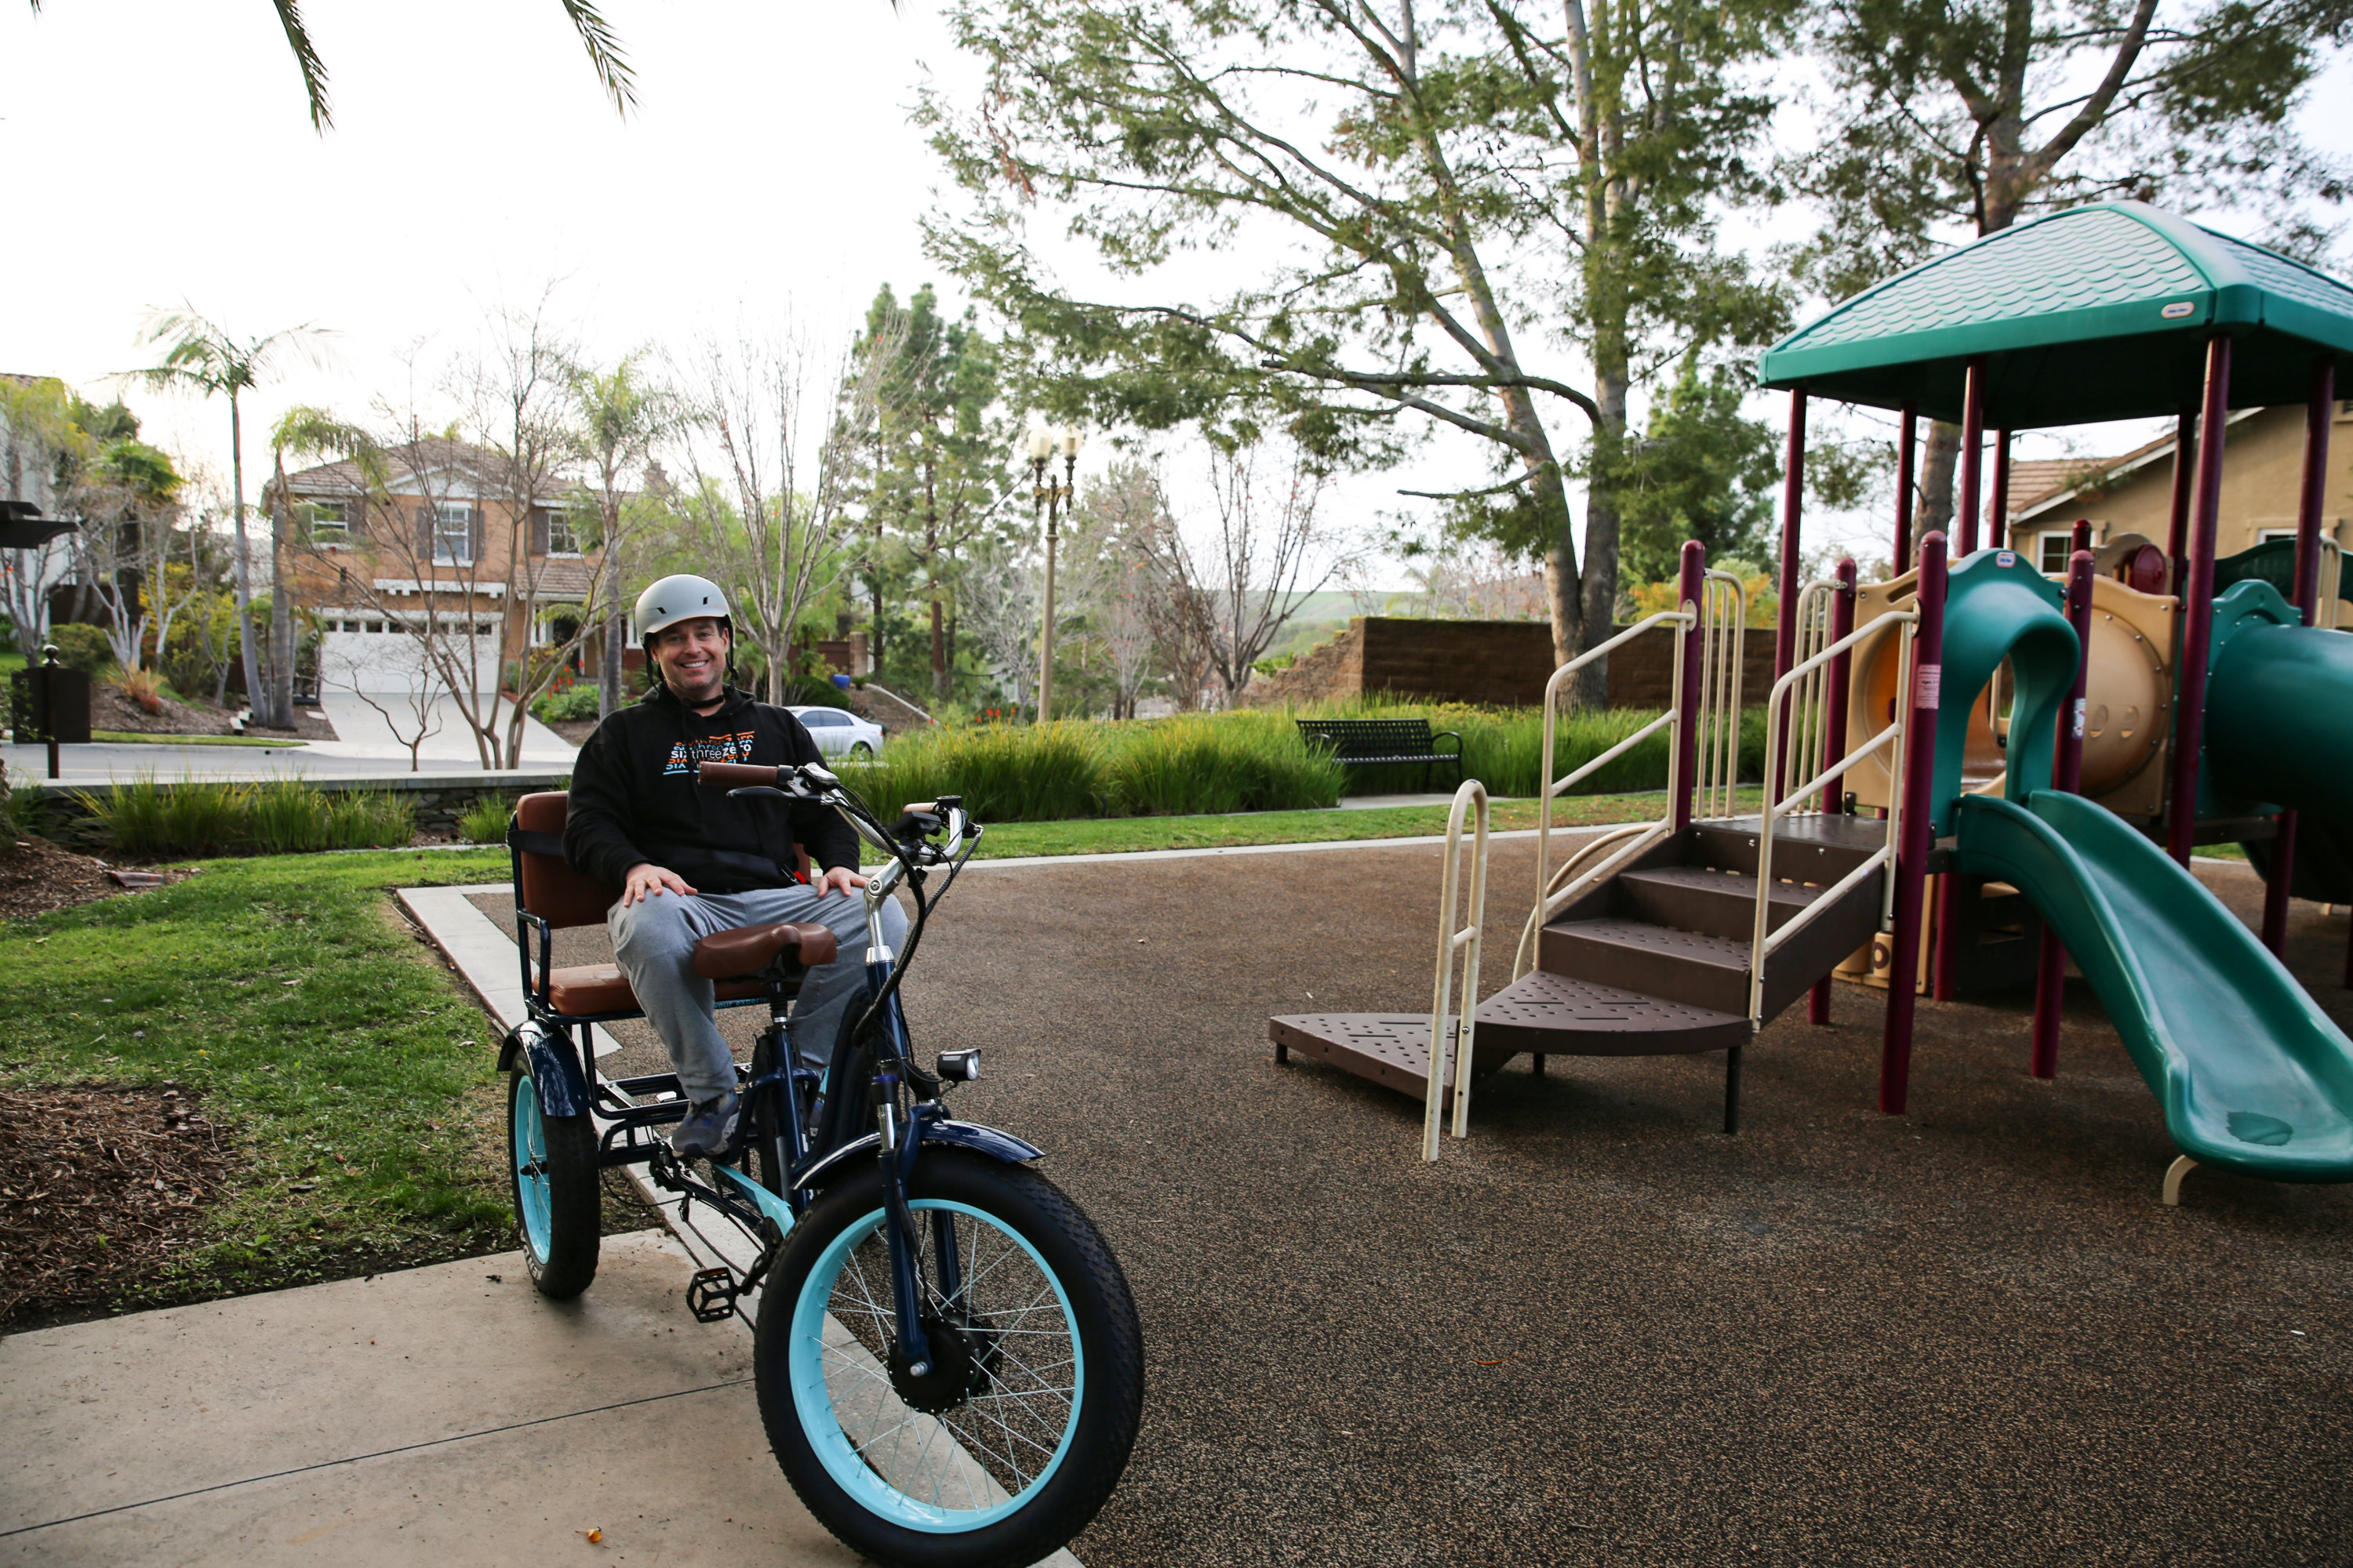
[{"label": "brown speckled rubber ground surface under the playground structure", "polygon": [[[1922,1004],[1880,1117],[1880,1001],[1840,985],[1748,1051],[1739,1138],[1720,1056],[1520,1058],[1424,1166],[1419,1103],[1278,1067],[1266,1018],[1426,1009],[1435,870],[976,863],[927,936],[918,1044],[984,1051],[958,1114],[1047,1150],[1144,1314],[1080,1561],[2353,1561],[2353,1190],[2195,1171],[2160,1206],[2174,1150],[2087,987],[2057,1084],[2028,994]],[[1482,990],[1532,884],[1497,844]],[[2339,1025],[2344,943],[2294,905]]]}]

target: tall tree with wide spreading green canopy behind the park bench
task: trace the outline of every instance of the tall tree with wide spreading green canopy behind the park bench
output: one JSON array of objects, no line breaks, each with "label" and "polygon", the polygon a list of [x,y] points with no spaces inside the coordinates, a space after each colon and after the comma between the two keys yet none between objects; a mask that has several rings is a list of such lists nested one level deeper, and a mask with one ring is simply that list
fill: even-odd
[{"label": "tall tree with wide spreading green canopy behind the park bench", "polygon": [[[1635,383],[1781,322],[1715,219],[1765,190],[1793,5],[960,0],[988,82],[922,101],[972,197],[927,240],[1049,411],[1228,447],[1280,425],[1327,468],[1475,437],[1499,482],[1457,520],[1544,559],[1569,658],[1609,635]],[[1033,221],[1108,282],[1059,284]]]}]

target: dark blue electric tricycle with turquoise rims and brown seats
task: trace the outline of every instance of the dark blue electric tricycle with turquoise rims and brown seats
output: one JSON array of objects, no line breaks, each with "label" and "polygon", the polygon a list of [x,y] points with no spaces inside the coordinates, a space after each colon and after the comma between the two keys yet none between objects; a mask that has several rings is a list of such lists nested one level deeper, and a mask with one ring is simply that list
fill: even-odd
[{"label": "dark blue electric tricycle with turquoise rims and brown seats", "polygon": [[[736,1227],[751,1262],[701,1269],[696,1319],[746,1316],[769,1448],[800,1500],[885,1563],[986,1568],[1064,1547],[1111,1495],[1144,1403],[1136,1309],[1085,1213],[1040,1175],[1040,1150],[948,1112],[979,1051],[915,1060],[901,980],[932,910],[981,839],[962,802],[885,825],[819,764],[701,764],[706,788],[833,806],[882,853],[866,898],[866,990],[819,1070],[786,1016],[814,924],[722,931],[694,950],[718,1006],[767,1006],[736,1067],[736,1143],[680,1161],[664,1128],[687,1112],[675,1074],[607,1079],[591,1027],[640,1018],[609,964],[558,969],[553,931],[602,924],[616,891],[562,860],[565,795],[529,795],[508,846],[527,1018],[501,1051],[513,1197],[532,1281],[572,1298],[595,1276],[607,1166],[642,1164],[680,1215]],[[941,877],[927,893],[927,882]],[[906,889],[906,950],[882,903]],[[755,1302],[755,1307],[746,1307]]]}]

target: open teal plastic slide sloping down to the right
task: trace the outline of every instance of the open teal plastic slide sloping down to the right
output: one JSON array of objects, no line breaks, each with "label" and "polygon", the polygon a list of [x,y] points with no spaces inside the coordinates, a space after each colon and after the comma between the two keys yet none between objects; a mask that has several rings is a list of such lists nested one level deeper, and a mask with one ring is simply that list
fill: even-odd
[{"label": "open teal plastic slide sloping down to the right", "polygon": [[2353,1180],[2353,1041],[2195,877],[2075,795],[1958,802],[1962,872],[2009,882],[2099,992],[2202,1166]]}]

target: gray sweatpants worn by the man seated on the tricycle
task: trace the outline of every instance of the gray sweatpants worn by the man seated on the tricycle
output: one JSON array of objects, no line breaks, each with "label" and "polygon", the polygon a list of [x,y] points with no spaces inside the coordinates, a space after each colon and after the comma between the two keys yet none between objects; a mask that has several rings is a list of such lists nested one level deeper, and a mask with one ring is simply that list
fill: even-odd
[{"label": "gray sweatpants worn by the man seated on the tricycle", "polygon": [[[816,922],[840,940],[840,954],[812,969],[793,1001],[793,1048],[824,1072],[833,1056],[833,1032],[842,1009],[866,983],[866,898],[861,893],[826,893],[816,889],[758,889],[753,893],[654,893],[633,905],[612,905],[605,929],[612,954],[638,992],[654,1034],[671,1051],[671,1067],[687,1098],[701,1105],[734,1088],[734,1058],[711,1018],[711,980],[694,973],[694,943],[713,931],[765,926],[779,919]],[[882,905],[882,938],[892,950],[906,945],[906,912],[892,898]]]}]

